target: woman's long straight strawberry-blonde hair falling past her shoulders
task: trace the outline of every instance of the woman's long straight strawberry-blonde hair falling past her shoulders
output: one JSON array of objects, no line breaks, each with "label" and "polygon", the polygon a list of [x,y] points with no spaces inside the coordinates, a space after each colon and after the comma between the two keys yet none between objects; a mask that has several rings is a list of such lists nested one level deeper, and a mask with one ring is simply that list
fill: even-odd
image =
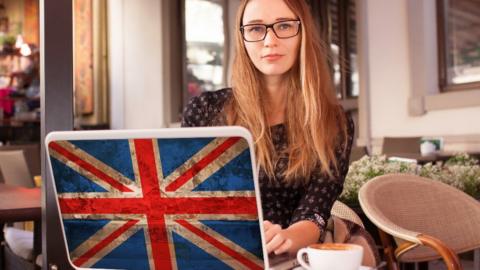
[{"label": "woman's long straight strawberry-blonde hair falling past her shoulders", "polygon": [[[266,120],[262,74],[250,60],[239,30],[248,1],[243,0],[237,12],[233,95],[225,106],[226,121],[229,125],[241,125],[250,130],[258,163],[268,176],[273,177],[279,156],[275,154]],[[339,143],[346,142],[346,119],[335,96],[326,47],[321,43],[308,5],[304,0],[284,2],[298,16],[302,26],[297,61],[285,74],[288,140],[285,152],[289,162],[284,177],[288,182],[307,181],[316,166],[330,176],[338,170],[335,150]]]}]

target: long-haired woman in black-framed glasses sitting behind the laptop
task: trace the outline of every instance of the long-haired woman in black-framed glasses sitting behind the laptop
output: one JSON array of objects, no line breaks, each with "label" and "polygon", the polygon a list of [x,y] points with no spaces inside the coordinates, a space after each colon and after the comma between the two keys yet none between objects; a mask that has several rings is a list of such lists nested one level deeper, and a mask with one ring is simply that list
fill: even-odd
[{"label": "long-haired woman in black-framed glasses sitting behind the laptop", "polygon": [[335,97],[324,47],[299,0],[244,0],[231,89],[187,105],[182,126],[240,125],[260,164],[267,251],[318,242],[348,170],[354,127]]}]

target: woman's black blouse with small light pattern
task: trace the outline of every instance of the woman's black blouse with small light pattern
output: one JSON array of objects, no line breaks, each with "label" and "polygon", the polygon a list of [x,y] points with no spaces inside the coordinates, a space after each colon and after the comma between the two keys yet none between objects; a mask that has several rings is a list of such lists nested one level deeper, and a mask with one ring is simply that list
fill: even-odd
[{"label": "woman's black blouse with small light pattern", "polygon": [[[223,113],[225,101],[231,96],[231,89],[204,92],[193,97],[183,112],[182,127],[220,126],[224,125]],[[288,157],[280,158],[275,167],[275,179],[268,179],[263,169],[259,172],[260,193],[263,217],[272,223],[287,228],[300,220],[310,220],[324,231],[330,210],[343,189],[343,182],[348,171],[348,162],[353,140],[354,125],[348,119],[347,149],[336,151],[339,175],[329,178],[315,169],[307,184],[288,185],[283,180],[282,172],[288,164]],[[271,126],[275,150],[280,152],[287,147],[287,133],[284,124]],[[272,181],[273,180],[273,181]],[[297,181],[301,183],[302,181]]]}]

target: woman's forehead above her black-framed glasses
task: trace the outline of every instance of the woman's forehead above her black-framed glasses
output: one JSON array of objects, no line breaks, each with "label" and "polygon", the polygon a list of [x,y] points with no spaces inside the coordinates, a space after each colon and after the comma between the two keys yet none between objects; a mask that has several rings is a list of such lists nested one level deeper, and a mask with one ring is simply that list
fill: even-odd
[{"label": "woman's forehead above her black-framed glasses", "polygon": [[274,23],[296,19],[293,11],[283,0],[250,0],[243,13],[243,24]]}]

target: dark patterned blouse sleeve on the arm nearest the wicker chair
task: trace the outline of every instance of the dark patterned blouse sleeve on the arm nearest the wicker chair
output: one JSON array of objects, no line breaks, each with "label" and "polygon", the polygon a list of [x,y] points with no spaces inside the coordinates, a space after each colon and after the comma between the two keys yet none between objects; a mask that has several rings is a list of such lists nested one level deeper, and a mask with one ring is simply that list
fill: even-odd
[{"label": "dark patterned blouse sleeve on the arm nearest the wicker chair", "polygon": [[320,228],[323,234],[327,220],[330,218],[332,206],[343,190],[343,182],[348,172],[354,128],[352,119],[347,115],[347,142],[341,144],[341,147],[336,150],[338,173],[334,173],[331,178],[325,177],[319,169],[312,173],[305,195],[295,209],[290,224],[300,220],[310,220]]}]

